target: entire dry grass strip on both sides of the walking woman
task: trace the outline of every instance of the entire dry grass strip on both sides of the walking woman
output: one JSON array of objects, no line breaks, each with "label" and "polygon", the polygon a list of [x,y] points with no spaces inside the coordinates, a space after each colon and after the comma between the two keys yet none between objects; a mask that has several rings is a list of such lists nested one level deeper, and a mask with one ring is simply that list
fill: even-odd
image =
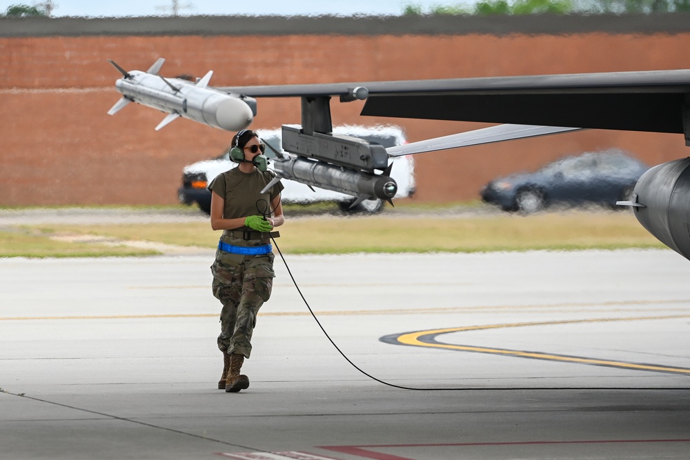
[{"label": "entire dry grass strip on both sides of the walking woman", "polygon": [[[17,252],[26,253],[28,249],[21,250],[21,247],[40,245],[32,252],[43,254],[43,257],[57,257],[52,254],[64,251],[49,250],[51,243],[46,240],[52,234],[90,234],[204,248],[215,248],[221,234],[211,230],[207,222],[50,225],[27,229],[33,232],[35,242],[15,240],[11,246],[17,245]],[[288,214],[286,224],[278,230],[282,237],[277,239],[277,245],[288,254],[666,248],[628,212],[543,213],[528,217],[515,214],[439,216],[420,212],[372,217],[290,218]],[[6,237],[6,232],[0,234],[0,239]],[[8,255],[8,246],[0,240],[0,256]]]}]

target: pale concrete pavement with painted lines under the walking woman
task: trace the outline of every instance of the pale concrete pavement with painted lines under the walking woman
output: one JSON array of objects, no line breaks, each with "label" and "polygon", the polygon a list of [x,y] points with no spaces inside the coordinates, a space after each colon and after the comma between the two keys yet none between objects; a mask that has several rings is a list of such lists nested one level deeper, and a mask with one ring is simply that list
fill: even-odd
[{"label": "pale concrete pavement with painted lines under the walking woman", "polygon": [[212,259],[0,259],[0,459],[690,458],[670,250],[277,259],[236,394]]}]

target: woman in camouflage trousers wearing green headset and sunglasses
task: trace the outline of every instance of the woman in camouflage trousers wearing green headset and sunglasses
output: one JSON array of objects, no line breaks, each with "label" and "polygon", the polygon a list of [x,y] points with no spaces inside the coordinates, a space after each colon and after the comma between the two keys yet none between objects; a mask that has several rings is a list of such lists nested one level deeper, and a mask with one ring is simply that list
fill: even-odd
[{"label": "woman in camouflage trousers wearing green headset and sunglasses", "polygon": [[264,150],[256,132],[238,132],[230,159],[239,165],[208,185],[211,228],[223,230],[211,272],[213,295],[223,304],[218,348],[224,354],[224,366],[218,388],[226,392],[249,387],[248,377],[239,371],[251,354],[257,312],[273,286],[270,230],[284,223],[282,183],[261,192],[275,177],[266,170],[265,157],[259,157]]}]

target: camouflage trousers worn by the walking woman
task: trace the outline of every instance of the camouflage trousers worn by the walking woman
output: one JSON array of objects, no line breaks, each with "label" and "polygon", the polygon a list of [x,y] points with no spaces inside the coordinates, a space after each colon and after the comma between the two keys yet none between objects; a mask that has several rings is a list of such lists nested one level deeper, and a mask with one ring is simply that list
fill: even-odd
[{"label": "camouflage trousers worn by the walking woman", "polygon": [[[221,241],[237,245],[237,240],[228,237]],[[253,241],[244,241],[242,246],[259,246],[246,243]],[[273,288],[273,257],[272,253],[246,256],[217,250],[211,273],[213,295],[223,304],[218,336],[221,352],[250,357],[257,313]]]}]

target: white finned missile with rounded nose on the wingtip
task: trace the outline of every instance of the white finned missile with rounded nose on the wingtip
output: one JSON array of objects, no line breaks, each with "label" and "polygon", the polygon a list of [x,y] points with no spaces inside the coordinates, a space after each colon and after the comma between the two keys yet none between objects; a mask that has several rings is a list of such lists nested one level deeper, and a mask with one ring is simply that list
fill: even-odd
[{"label": "white finned missile with rounded nose on the wingtip", "polygon": [[213,70],[193,83],[161,77],[158,72],[165,62],[163,58],[159,58],[146,72],[127,72],[114,61],[108,61],[122,74],[115,82],[115,89],[123,96],[108,110],[110,115],[116,114],[128,103],[136,102],[168,113],[156,130],[184,117],[213,128],[239,131],[249,126],[256,114],[255,99],[208,87]]}]

